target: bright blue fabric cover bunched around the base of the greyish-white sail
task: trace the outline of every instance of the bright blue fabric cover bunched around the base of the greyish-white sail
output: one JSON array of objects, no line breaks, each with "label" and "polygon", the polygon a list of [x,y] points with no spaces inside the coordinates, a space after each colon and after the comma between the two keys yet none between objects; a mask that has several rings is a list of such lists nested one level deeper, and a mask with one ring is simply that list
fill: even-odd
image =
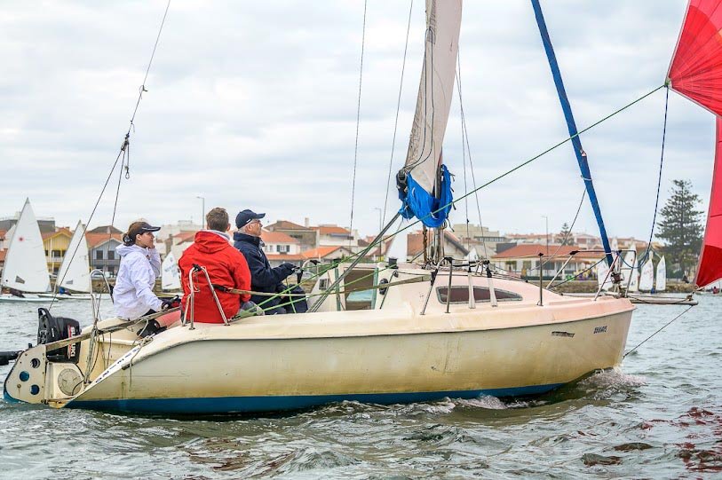
[{"label": "bright blue fabric cover bunched around the base of the greyish-white sail", "polygon": [[439,228],[448,218],[451,211],[454,195],[451,190],[451,174],[448,173],[446,165],[440,165],[441,188],[439,198],[426,192],[424,187],[419,185],[413,175],[407,176],[407,188],[404,192],[399,191],[401,199],[401,216],[410,220],[416,216],[421,223],[429,228]]}]

